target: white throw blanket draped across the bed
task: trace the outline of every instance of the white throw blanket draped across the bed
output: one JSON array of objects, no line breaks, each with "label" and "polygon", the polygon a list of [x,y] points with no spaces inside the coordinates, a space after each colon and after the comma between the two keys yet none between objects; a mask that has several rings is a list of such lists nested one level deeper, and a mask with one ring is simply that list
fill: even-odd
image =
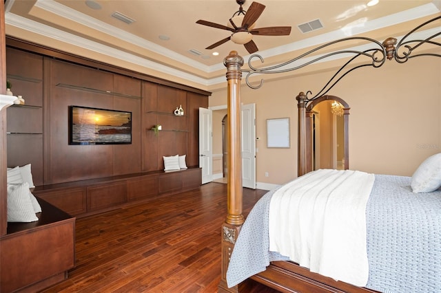
[{"label": "white throw blanket draped across the bed", "polygon": [[311,272],[365,286],[366,204],[374,175],[320,169],[285,184],[271,198],[269,250]]}]

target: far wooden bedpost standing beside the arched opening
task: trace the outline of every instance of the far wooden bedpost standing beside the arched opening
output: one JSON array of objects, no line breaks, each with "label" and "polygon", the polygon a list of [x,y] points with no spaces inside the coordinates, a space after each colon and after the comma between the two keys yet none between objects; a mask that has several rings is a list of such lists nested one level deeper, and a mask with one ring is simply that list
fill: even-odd
[{"label": "far wooden bedpost standing beside the arched opening", "polygon": [[301,176],[305,173],[307,167],[307,155],[306,155],[306,95],[300,92],[296,96],[297,107],[298,107],[298,140],[297,140],[297,176]]}]

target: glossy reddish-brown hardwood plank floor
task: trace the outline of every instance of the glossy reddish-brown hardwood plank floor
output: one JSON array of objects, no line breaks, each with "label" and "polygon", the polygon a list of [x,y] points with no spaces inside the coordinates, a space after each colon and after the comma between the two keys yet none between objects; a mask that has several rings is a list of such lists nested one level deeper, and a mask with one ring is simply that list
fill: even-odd
[{"label": "glossy reddish-brown hardwood plank floor", "polygon": [[[244,188],[244,215],[265,193]],[[43,292],[217,292],[226,213],[227,185],[212,182],[77,219],[76,266]]]}]

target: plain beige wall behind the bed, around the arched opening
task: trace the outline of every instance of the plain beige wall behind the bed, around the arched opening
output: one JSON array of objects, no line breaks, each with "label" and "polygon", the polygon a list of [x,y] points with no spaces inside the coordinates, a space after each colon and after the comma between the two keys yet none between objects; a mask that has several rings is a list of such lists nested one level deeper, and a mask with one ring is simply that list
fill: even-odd
[{"label": "plain beige wall behind the bed, around the arched opening", "polygon": [[[349,103],[349,168],[411,176],[420,162],[441,151],[441,61],[418,57],[361,68],[328,94]],[[297,176],[297,106],[300,91],[318,91],[334,72],[266,80],[260,89],[240,88],[243,104],[256,103],[257,182],[283,184]],[[265,76],[264,76],[265,78]],[[227,104],[225,89],[209,106]],[[266,120],[290,118],[291,148],[267,149]],[[269,177],[265,177],[265,172]]]}]

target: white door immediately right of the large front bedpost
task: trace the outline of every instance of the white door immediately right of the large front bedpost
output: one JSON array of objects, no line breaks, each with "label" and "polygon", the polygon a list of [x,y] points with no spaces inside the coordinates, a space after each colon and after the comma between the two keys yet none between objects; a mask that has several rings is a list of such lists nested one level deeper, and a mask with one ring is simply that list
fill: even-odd
[{"label": "white door immediately right of the large front bedpost", "polygon": [[242,105],[242,186],[256,189],[256,104]]}]

